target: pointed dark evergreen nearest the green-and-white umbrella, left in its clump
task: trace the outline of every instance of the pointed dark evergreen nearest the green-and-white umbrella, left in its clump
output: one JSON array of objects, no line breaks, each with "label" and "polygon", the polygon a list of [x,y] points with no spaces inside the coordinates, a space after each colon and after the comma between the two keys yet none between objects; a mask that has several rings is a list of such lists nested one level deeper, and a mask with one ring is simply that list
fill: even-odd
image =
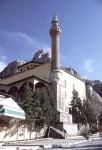
[{"label": "pointed dark evergreen nearest the green-and-white umbrella, left in its clump", "polygon": [[36,92],[33,94],[28,82],[23,87],[20,106],[25,111],[26,123],[33,123],[42,118],[39,95]]}]

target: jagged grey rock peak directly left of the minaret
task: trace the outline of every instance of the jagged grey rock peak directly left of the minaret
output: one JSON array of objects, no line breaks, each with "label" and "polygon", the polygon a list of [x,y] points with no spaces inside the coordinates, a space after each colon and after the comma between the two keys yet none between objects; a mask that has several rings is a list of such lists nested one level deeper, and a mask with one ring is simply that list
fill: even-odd
[{"label": "jagged grey rock peak directly left of the minaret", "polygon": [[43,49],[39,49],[34,54],[34,57],[32,60],[36,62],[47,63],[47,62],[50,62],[50,56],[48,52],[44,52]]}]

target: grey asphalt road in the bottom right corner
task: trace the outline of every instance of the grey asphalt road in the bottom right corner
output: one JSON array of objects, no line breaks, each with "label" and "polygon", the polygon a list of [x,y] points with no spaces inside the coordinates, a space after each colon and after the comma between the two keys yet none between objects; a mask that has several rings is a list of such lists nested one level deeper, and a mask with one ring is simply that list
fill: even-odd
[{"label": "grey asphalt road in the bottom right corner", "polygon": [[52,148],[46,150],[102,150],[102,140],[92,141],[84,144],[78,144],[73,146],[72,148],[64,147],[64,148]]}]

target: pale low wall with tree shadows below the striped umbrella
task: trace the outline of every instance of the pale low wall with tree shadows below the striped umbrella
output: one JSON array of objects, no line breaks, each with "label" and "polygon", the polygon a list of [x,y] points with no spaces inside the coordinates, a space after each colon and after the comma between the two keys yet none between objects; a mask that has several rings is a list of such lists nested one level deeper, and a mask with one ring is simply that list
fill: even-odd
[{"label": "pale low wall with tree shadows below the striped umbrella", "polygon": [[17,120],[12,119],[8,127],[0,127],[0,141],[35,139],[42,137],[46,131],[46,127],[42,128],[39,132],[31,132],[29,129],[29,126],[20,125],[17,123]]}]

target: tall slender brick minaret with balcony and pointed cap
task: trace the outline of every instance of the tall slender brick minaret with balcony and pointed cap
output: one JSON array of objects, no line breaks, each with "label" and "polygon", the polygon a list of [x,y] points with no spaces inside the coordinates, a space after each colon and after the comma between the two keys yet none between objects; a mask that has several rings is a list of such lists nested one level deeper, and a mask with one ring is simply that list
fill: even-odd
[{"label": "tall slender brick minaret with balcony and pointed cap", "polygon": [[59,47],[59,38],[60,38],[60,25],[57,15],[54,15],[50,28],[51,36],[51,70],[57,71],[60,69],[60,47]]}]

